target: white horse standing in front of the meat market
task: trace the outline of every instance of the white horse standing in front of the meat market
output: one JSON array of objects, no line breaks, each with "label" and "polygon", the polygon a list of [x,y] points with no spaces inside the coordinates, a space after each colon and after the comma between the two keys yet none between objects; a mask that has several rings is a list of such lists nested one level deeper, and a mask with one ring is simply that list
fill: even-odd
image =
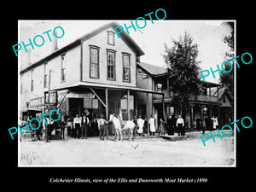
[{"label": "white horse standing in front of the meat market", "polygon": [[[119,136],[120,136],[120,140],[123,140],[123,136],[122,136],[122,130],[129,130],[131,133],[131,136],[129,138],[129,140],[131,140],[132,138],[132,133],[133,133],[133,129],[135,127],[135,124],[131,121],[131,120],[127,120],[127,121],[123,121],[121,119],[118,119],[114,116],[113,114],[110,114],[109,116],[109,120],[110,122],[113,122],[113,126],[116,132],[116,141],[119,140]],[[122,128],[122,125],[124,125],[124,127]]]}]

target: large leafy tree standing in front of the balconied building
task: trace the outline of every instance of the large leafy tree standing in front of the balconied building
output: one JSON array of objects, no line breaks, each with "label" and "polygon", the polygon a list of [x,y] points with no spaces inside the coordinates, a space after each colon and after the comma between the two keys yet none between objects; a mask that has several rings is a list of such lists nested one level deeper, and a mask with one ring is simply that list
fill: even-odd
[{"label": "large leafy tree standing in front of the balconied building", "polygon": [[172,78],[173,100],[179,108],[186,111],[189,107],[189,97],[198,96],[201,90],[200,61],[197,61],[198,44],[188,32],[172,40],[173,46],[165,44],[163,55],[168,73]]}]

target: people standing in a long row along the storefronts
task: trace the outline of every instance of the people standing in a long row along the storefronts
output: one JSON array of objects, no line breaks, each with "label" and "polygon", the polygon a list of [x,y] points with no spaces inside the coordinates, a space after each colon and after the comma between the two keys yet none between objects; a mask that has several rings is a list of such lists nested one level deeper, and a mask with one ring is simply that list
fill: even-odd
[{"label": "people standing in a long row along the storefronts", "polygon": [[[88,130],[97,130],[96,134],[99,135],[99,138],[101,140],[104,140],[104,138],[108,139],[108,121],[104,119],[103,114],[100,115],[98,118],[96,115],[92,115],[90,118],[88,115],[83,113],[81,116],[77,113],[75,118],[69,113],[68,115],[65,115],[61,118],[60,121],[54,122],[49,118],[49,115],[45,115],[45,119],[47,122],[47,125],[43,119],[43,117],[40,118],[41,127],[36,130],[36,137],[39,140],[40,136],[42,135],[42,130],[44,131],[44,142],[50,142],[51,140],[51,133],[54,129],[61,128],[61,139],[65,139],[65,130],[67,131],[67,138],[78,138],[78,139],[87,139],[88,137]],[[138,134],[139,136],[144,136],[144,134],[147,134],[149,131],[150,136],[154,136],[155,132],[159,132],[159,135],[165,135],[166,132],[168,135],[174,135],[174,131],[177,131],[178,136],[184,136],[185,130],[187,127],[187,121],[181,117],[181,115],[178,116],[177,119],[175,119],[172,115],[168,117],[166,122],[164,119],[160,118],[159,121],[159,127],[156,129],[155,126],[155,118],[152,114],[150,119],[147,118],[147,116],[138,116],[134,117],[133,122],[135,123],[137,129],[135,129],[135,134]],[[200,118],[196,119],[196,128],[202,130],[203,132],[206,130],[206,128],[209,125],[209,120],[204,118],[203,122],[201,122]],[[32,121],[33,127],[38,127],[37,121]],[[213,129],[216,129],[218,126],[218,119],[214,116],[212,117],[212,127]]]}]

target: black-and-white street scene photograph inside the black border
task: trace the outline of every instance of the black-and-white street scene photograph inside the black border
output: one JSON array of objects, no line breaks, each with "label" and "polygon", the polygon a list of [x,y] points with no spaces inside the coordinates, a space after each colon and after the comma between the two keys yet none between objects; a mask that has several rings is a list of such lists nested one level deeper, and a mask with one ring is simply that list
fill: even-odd
[{"label": "black-and-white street scene photograph inside the black border", "polygon": [[19,167],[236,167],[236,20],[158,13],[18,20]]}]

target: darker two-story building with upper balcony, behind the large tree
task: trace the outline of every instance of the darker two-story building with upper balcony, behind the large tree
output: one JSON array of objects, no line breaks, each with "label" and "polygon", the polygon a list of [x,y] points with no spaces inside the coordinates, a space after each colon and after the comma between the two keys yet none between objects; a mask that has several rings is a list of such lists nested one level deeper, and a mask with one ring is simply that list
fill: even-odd
[{"label": "darker two-story building with upper balcony, behind the large tree", "polygon": [[[168,115],[174,115],[177,118],[178,114],[181,114],[181,110],[176,103],[172,102],[172,77],[167,73],[167,68],[145,62],[137,62],[137,68],[138,87],[164,93],[164,99],[159,95],[150,95],[149,100],[146,99],[145,94],[139,93],[137,96],[139,103],[138,114],[145,114],[145,106],[149,105],[149,113],[154,114],[158,119],[157,126],[160,118],[166,120]],[[183,118],[189,122],[189,125],[194,125],[194,127],[197,118],[203,119],[206,116],[210,119],[212,116],[218,117],[218,121],[221,124],[226,124],[228,116],[232,112],[232,106],[222,91],[221,95],[219,95],[220,84],[211,82],[202,82],[202,84],[201,94],[190,97],[190,107],[187,113],[183,114]]]}]

